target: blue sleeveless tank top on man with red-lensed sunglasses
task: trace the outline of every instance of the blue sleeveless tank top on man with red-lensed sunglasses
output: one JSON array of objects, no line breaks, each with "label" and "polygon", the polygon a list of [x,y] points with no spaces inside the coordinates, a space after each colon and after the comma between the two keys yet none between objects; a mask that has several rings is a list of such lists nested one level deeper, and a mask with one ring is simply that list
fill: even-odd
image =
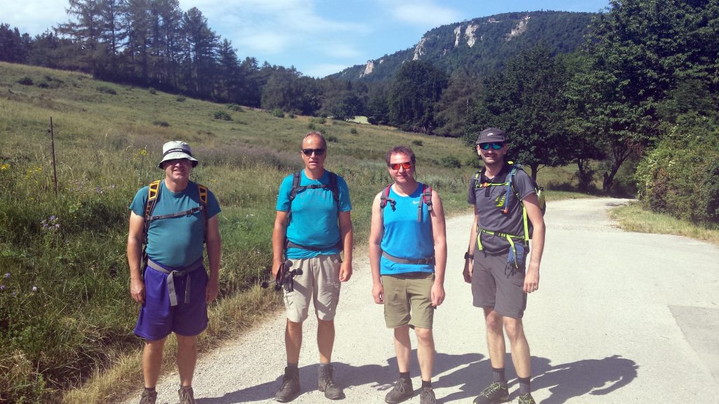
[{"label": "blue sleeveless tank top on man with red-lensed sunglasses", "polygon": [[[434,256],[432,219],[426,203],[422,203],[422,220],[417,221],[422,188],[423,184],[418,183],[411,195],[399,196],[390,187],[389,197],[395,201],[395,208],[390,203],[383,208],[384,234],[380,247],[393,257],[420,260]],[[401,264],[381,257],[381,275],[406,272],[434,272],[434,264]]]}]

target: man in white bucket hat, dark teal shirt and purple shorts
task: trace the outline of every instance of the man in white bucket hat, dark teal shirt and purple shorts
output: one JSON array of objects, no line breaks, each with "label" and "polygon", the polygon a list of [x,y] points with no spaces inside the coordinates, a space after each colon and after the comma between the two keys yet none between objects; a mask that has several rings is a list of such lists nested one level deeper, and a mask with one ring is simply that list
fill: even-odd
[{"label": "man in white bucket hat, dark teal shirt and purple shorts", "polygon": [[[140,404],[157,400],[162,349],[171,332],[178,339],[180,404],[195,403],[192,379],[197,336],[207,327],[207,304],[217,297],[221,257],[220,206],[210,190],[190,180],[197,164],[186,142],[165,143],[158,165],[165,170],[165,179],[140,189],[130,205],[130,295],[142,305],[134,332],[145,339],[145,390]],[[203,241],[209,277],[203,265]]]}]

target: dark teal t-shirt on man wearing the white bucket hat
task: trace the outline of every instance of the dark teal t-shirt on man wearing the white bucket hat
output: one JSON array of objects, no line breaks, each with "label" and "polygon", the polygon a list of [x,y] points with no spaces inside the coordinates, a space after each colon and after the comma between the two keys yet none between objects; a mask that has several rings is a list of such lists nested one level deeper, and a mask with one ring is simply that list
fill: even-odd
[{"label": "dark teal t-shirt on man wearing the white bucket hat", "polygon": [[[137,191],[129,208],[139,216],[145,216],[147,188]],[[208,190],[207,218],[220,212],[214,193]],[[171,192],[160,181],[160,191],[152,216],[175,214],[201,206],[200,194],[192,181],[180,192]],[[205,221],[202,211],[168,219],[155,219],[147,230],[147,256],[166,267],[185,267],[200,259],[204,250]]]}]

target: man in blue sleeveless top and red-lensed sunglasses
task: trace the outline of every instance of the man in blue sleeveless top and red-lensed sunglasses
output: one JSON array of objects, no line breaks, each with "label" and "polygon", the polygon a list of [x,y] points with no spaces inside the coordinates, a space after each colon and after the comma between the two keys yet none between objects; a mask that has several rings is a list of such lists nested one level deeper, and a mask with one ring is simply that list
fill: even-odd
[{"label": "man in blue sleeveless top and red-lensed sunglasses", "polygon": [[414,394],[410,377],[409,329],[417,336],[421,404],[434,404],[432,369],[434,309],[444,301],[446,234],[436,191],[415,178],[416,157],[398,146],[385,156],[394,183],[375,197],[370,228],[372,297],[385,306],[385,324],[394,329],[399,378],[385,396],[389,404]]}]

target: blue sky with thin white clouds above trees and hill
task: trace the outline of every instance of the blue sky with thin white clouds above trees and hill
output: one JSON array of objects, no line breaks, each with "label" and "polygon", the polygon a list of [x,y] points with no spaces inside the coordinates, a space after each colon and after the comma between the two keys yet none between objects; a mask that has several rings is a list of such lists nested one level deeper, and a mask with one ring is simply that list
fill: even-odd
[{"label": "blue sky with thin white clouds above trees and hill", "polygon": [[[608,0],[180,0],[197,7],[239,58],[294,66],[324,77],[413,47],[422,35],[464,19],[503,12],[598,12]],[[67,22],[68,1],[0,0],[0,22],[37,35]]]}]

